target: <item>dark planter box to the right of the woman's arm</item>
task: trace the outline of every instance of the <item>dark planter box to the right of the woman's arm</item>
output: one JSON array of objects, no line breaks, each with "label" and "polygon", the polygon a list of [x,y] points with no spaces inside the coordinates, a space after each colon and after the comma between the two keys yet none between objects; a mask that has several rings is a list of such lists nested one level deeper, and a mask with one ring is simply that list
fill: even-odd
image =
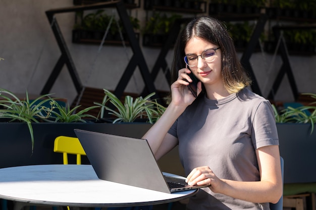
[{"label": "dark planter box to the right of the woman's arm", "polygon": [[316,182],[316,131],[310,124],[277,123],[284,183]]}]

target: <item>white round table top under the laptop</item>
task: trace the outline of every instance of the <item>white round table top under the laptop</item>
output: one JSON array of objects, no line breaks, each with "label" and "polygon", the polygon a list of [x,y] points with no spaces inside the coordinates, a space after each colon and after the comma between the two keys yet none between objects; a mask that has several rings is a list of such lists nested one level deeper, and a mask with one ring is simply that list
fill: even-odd
[{"label": "white round table top under the laptop", "polygon": [[98,179],[91,165],[0,169],[0,198],[56,206],[111,207],[168,203],[197,190],[164,193]]}]

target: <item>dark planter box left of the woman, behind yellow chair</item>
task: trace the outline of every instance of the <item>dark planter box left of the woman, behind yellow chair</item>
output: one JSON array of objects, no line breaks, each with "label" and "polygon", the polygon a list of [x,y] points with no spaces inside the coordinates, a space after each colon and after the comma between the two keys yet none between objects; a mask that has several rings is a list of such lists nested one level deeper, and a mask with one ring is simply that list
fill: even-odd
[{"label": "dark planter box left of the woman, behind yellow chair", "polygon": [[[129,137],[142,137],[149,123],[34,123],[34,151],[26,123],[0,123],[0,168],[39,164],[62,164],[63,157],[54,153],[54,140],[59,135],[75,137],[74,129],[104,132]],[[70,157],[71,158],[71,157]],[[75,157],[73,159],[75,163]],[[72,160],[70,159],[70,163]],[[88,163],[83,157],[83,164]]]}]

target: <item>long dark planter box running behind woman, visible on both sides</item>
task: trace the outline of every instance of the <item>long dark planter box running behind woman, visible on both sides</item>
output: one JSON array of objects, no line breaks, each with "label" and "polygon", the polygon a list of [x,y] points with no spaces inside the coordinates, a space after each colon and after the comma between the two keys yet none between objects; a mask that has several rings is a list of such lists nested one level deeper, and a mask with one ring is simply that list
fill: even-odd
[{"label": "long dark planter box running behind woman, visible on both sides", "polygon": [[[62,155],[53,151],[54,140],[59,135],[75,136],[75,128],[141,137],[150,127],[148,123],[33,123],[32,154],[27,125],[1,122],[0,168],[62,164]],[[310,134],[309,124],[277,123],[277,128],[284,159],[284,183],[316,182],[316,131]]]}]

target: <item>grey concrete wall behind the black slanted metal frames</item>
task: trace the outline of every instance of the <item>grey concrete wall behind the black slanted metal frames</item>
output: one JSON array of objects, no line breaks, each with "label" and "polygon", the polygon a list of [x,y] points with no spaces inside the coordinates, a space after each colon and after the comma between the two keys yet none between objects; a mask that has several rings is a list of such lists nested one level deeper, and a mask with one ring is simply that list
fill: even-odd
[{"label": "grey concrete wall behind the black slanted metal frames", "polygon": [[[0,0],[0,57],[5,58],[0,61],[0,88],[15,93],[25,93],[26,90],[31,94],[40,93],[61,55],[45,11],[70,6],[73,6],[73,0]],[[112,13],[112,9],[109,12]],[[143,26],[146,13],[142,7],[131,10],[130,13],[142,20]],[[114,90],[132,56],[131,49],[104,46],[98,52],[98,45],[73,44],[71,33],[75,22],[74,13],[58,14],[56,18],[83,85]],[[143,47],[141,41],[140,46],[148,68],[152,69],[160,49]],[[239,55],[241,56],[241,53]],[[170,50],[167,56],[169,64],[172,58],[173,50]],[[315,56],[290,57],[299,92],[316,92],[314,58]],[[274,62],[273,60],[272,54],[261,52],[254,53],[250,60],[265,97],[282,64],[279,56],[275,57]],[[144,83],[137,68],[125,91],[140,93],[143,87]],[[155,87],[157,90],[169,90],[168,82],[162,73],[156,79]],[[70,103],[77,96],[66,67],[50,92],[56,93],[56,97],[67,98]],[[276,93],[276,100],[293,100],[286,78]]]}]

